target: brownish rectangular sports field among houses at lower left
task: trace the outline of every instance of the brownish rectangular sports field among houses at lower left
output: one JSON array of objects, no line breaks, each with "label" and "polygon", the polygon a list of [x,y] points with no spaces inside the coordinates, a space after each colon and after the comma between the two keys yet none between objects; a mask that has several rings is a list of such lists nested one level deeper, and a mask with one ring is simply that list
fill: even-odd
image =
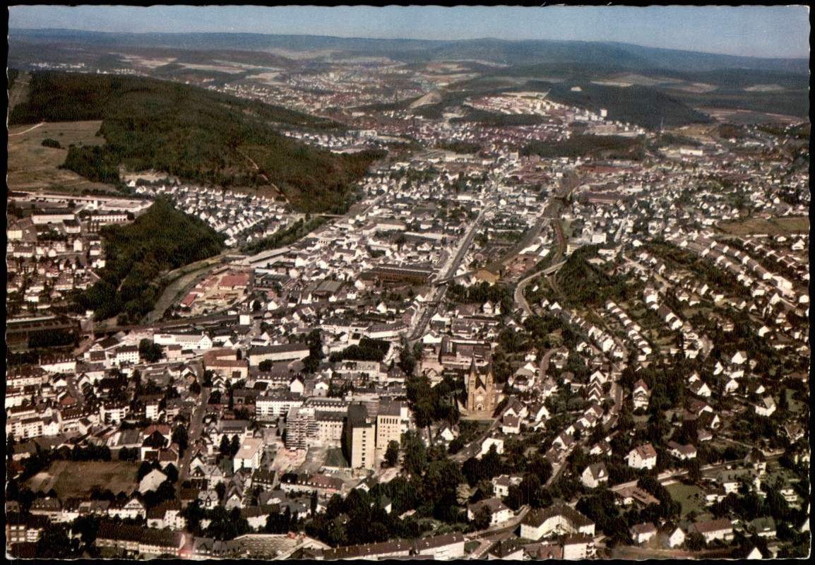
[{"label": "brownish rectangular sports field among houses at lower left", "polygon": [[132,492],[136,488],[139,464],[131,461],[55,461],[31,479],[32,490],[53,488],[60,498],[81,497],[94,487]]}]

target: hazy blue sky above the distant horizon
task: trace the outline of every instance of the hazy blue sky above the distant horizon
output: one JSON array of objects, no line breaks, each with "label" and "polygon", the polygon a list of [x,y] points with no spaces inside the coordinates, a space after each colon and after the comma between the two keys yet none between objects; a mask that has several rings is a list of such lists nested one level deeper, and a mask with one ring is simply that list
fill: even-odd
[{"label": "hazy blue sky above the distant horizon", "polygon": [[10,29],[292,33],[341,38],[612,41],[750,57],[809,57],[800,6],[12,6]]}]

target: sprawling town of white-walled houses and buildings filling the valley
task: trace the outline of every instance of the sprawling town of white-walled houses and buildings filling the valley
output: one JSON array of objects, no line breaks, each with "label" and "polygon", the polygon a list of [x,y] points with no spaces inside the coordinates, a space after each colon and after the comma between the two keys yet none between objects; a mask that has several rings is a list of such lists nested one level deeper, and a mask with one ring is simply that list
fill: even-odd
[{"label": "sprawling town of white-walled houses and buildings filling the valley", "polygon": [[[381,103],[388,77],[404,72],[373,60],[211,87],[311,112],[347,110]],[[399,99],[447,80],[430,71],[409,77]],[[16,550],[39,540],[48,523],[93,514],[103,519],[95,546],[105,555],[593,558],[607,554],[605,538],[615,532],[603,532],[600,520],[576,510],[580,497],[608,489],[623,516],[653,510],[667,502],[659,500],[663,494],[629,479],[653,477],[669,488],[696,463],[700,478],[690,488],[699,513],[634,523],[632,544],[688,548],[694,534],[712,544],[756,532],[782,545],[772,516],[746,522],[713,509],[730,495],[766,497],[777,484],[769,483],[767,467],[779,469],[779,446],[796,464],[808,462],[808,397],[800,393],[810,355],[808,234],[731,236],[726,228],[734,220],[805,218],[808,191],[798,200],[790,195],[808,187],[808,174],[778,155],[758,160],[756,151],[782,147],[772,138],[756,137],[755,146],[705,135],[698,145],[652,149],[654,134],[544,95],[465,104],[553,120],[481,126],[447,119],[462,108],[447,108],[442,120],[418,119],[416,108],[355,108],[350,118],[362,128],[358,133],[289,131],[338,152],[405,136],[425,150],[370,171],[354,214],[286,247],[214,267],[179,298],[186,315],[180,320],[110,332],[74,355],[38,351],[36,360],[11,367],[5,408],[7,435],[15,440],[12,476],[48,449],[107,448],[114,459],[125,453],[151,466],[112,501],[39,496],[27,513],[9,509],[15,513],[9,539],[22,544]],[[588,124],[596,135],[642,135],[649,159],[520,152],[533,141],[566,139],[571,121]],[[450,142],[479,149],[455,152],[445,148],[454,146]],[[560,197],[566,177],[577,179],[575,188]],[[233,247],[297,218],[278,202],[212,188],[153,185],[136,192],[173,197],[179,210],[209,223]],[[559,218],[544,218],[556,199]],[[79,329],[78,320],[52,309],[64,306],[71,290],[94,284],[94,271],[104,267],[99,227],[126,223],[149,205],[96,196],[71,200],[11,195],[24,214],[7,227],[7,326],[10,344],[21,350],[39,343],[41,337],[32,336]],[[38,210],[29,214],[31,204]],[[538,230],[535,237],[514,249],[531,229]],[[549,282],[541,276],[532,287],[531,311],[557,329],[534,342],[524,324],[530,316],[519,314],[517,304],[508,309],[505,301],[466,294],[482,282],[528,276],[555,255],[567,261],[587,246],[597,251],[588,268],[615,288],[598,289],[595,304],[576,304],[564,299],[571,289],[553,284],[556,265]],[[487,270],[508,255],[510,267]],[[20,316],[26,309],[37,316]],[[736,331],[737,324],[745,327]],[[767,347],[753,347],[748,334]],[[519,337],[512,347],[508,335]],[[381,462],[407,431],[447,448],[462,437],[460,422],[417,428],[407,395],[410,375],[402,369],[410,356],[431,388],[458,386],[450,397],[463,420],[489,422],[487,431],[459,446],[453,461],[482,460],[493,449],[505,461],[516,442],[533,439],[552,465],[544,488],[563,479],[577,494],[513,511],[508,499],[522,476],[491,477],[491,492],[461,504],[471,522],[489,511],[488,540],[480,539],[484,532],[452,532],[330,548],[302,533],[264,533],[270,518],[313,518],[331,497],[393,479],[401,466],[385,469]],[[676,379],[671,390],[685,395],[666,410],[661,379],[668,371]],[[782,426],[778,413],[785,410]],[[659,417],[665,422],[651,426],[650,418]],[[751,440],[747,418],[769,418],[757,422],[770,422],[778,433]],[[186,430],[186,441],[179,430]],[[748,441],[756,448],[747,457],[721,464],[706,459]],[[174,474],[178,481],[170,479]],[[786,504],[804,510],[800,479],[776,475]],[[166,485],[172,496],[154,503]],[[227,541],[192,536],[183,518],[190,504],[234,511],[253,532]],[[806,532],[808,518],[791,527]]]}]

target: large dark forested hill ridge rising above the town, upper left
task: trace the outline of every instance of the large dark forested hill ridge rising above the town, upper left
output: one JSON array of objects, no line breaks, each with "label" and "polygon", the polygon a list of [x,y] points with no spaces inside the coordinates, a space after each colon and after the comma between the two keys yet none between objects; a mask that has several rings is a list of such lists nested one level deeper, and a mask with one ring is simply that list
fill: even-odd
[{"label": "large dark forested hill ridge rising above the town, upper left", "polygon": [[221,187],[274,187],[304,212],[344,213],[355,182],[383,152],[337,155],[280,135],[275,126],[341,124],[196,86],[146,77],[33,73],[10,125],[102,120],[101,148],[68,149],[64,166],[115,183],[118,166],[161,170]]}]

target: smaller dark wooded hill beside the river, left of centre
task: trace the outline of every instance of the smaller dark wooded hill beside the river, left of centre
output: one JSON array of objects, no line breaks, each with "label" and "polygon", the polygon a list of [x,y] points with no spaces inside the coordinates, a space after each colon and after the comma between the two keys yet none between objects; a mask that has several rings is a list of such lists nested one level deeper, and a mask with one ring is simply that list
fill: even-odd
[{"label": "smaller dark wooded hill beside the river, left of centre", "polygon": [[162,271],[223,249],[223,236],[165,199],[157,200],[134,223],[104,227],[101,234],[107,263],[99,271],[99,281],[78,295],[77,306],[95,311],[97,320],[118,315],[120,324],[138,322],[152,310],[163,290],[158,280]]}]

